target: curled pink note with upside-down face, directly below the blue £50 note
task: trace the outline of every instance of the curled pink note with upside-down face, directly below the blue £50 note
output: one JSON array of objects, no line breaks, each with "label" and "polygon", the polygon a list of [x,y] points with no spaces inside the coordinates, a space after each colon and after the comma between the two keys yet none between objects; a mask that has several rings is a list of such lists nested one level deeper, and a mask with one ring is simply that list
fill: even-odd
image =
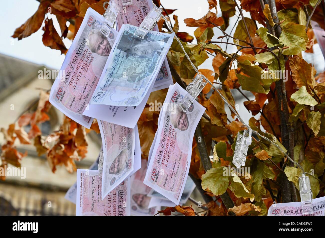
[{"label": "curled pink note with upside-down face, directly below the blue \u00a350 note", "polygon": [[101,120],[98,121],[98,125],[104,151],[101,184],[102,198],[104,198],[118,184],[140,168],[141,152],[139,146],[137,146],[138,151],[135,151],[137,128],[132,129]]}]

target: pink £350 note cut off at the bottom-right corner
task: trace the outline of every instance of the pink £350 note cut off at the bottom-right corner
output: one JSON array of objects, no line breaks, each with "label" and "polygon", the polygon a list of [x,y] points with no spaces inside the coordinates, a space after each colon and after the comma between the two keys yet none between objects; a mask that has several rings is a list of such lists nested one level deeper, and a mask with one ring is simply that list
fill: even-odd
[{"label": "pink \u00a3350 note cut off at the bottom-right corner", "polygon": [[[325,197],[313,199],[311,213],[305,216],[325,216]],[[267,216],[304,216],[301,202],[275,203],[268,208]]]}]

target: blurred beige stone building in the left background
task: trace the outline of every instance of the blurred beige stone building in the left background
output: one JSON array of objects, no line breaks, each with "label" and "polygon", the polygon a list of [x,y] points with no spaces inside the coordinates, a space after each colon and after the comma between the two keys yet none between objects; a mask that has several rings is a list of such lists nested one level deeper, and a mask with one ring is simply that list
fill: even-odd
[{"label": "blurred beige stone building in the left background", "polygon": [[[50,89],[55,79],[39,78],[39,70],[44,69],[48,70],[42,65],[0,54],[0,127],[7,129],[26,109],[36,109],[40,90]],[[49,115],[50,121],[40,125],[44,135],[59,129],[63,120],[63,113],[53,106]],[[28,132],[29,128],[25,130]],[[4,137],[0,134],[2,145]],[[76,162],[78,168],[88,168],[98,157],[100,135],[92,131],[87,135],[87,142],[87,156]],[[21,166],[26,168],[26,178],[9,176],[5,181],[0,180],[0,215],[75,215],[75,205],[64,195],[76,182],[76,173],[68,173],[64,166],[58,166],[52,173],[46,156],[39,157],[33,145],[22,145],[18,139],[16,145],[20,152],[28,152],[21,161]]]}]

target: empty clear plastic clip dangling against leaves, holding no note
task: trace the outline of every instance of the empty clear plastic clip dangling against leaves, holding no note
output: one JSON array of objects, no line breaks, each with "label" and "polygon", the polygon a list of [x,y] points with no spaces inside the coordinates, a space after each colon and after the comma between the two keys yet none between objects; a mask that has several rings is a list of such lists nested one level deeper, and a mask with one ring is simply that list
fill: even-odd
[{"label": "empty clear plastic clip dangling against leaves, holding no note", "polygon": [[244,166],[246,162],[246,156],[248,151],[248,146],[252,144],[252,129],[245,129],[243,134],[238,132],[236,146],[234,151],[234,157],[232,163],[237,167]]}]

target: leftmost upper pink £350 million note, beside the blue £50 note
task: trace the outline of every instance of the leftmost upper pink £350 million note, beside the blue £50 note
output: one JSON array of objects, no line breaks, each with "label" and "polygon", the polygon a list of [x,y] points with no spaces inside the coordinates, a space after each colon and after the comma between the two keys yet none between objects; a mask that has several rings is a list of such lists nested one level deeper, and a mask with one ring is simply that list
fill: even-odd
[{"label": "leftmost upper pink \u00a3350 million note, beside the blue \u00a350 note", "polygon": [[106,38],[99,29],[104,21],[88,8],[77,35],[51,88],[49,101],[66,116],[89,128],[93,119],[82,115],[97,86],[117,31]]}]

